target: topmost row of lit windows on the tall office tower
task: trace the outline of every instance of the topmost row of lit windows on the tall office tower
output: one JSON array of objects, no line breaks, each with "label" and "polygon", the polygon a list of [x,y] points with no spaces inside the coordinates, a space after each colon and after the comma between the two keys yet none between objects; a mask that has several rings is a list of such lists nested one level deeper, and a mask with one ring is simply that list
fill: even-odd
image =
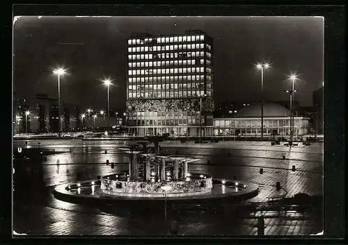
[{"label": "topmost row of lit windows on the tall office tower", "polygon": [[139,38],[139,39],[129,39],[128,45],[143,45],[146,43],[151,43],[156,41],[157,43],[166,43],[166,42],[197,42],[204,41],[204,35],[183,35],[176,37],[167,37],[167,38]]}]

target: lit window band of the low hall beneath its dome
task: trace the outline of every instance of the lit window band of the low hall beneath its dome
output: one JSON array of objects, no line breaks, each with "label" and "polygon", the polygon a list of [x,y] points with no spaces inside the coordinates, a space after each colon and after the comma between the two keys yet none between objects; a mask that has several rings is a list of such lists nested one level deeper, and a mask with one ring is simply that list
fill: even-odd
[{"label": "lit window band of the low hall beneath its dome", "polygon": [[[261,120],[214,120],[215,127],[261,127]],[[288,127],[290,119],[264,120],[264,127]],[[294,120],[294,126],[300,127],[301,120]]]}]

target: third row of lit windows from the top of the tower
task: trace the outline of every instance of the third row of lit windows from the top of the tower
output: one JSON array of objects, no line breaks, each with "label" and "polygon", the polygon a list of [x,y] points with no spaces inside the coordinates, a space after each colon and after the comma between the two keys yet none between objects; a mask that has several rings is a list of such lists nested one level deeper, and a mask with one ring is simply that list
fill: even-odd
[{"label": "third row of lit windows from the top of the tower", "polygon": [[[129,60],[141,60],[141,59],[152,59],[152,58],[190,58],[190,57],[203,57],[203,51],[201,52],[179,52],[179,53],[163,53],[163,54],[129,54]],[[212,54],[206,53],[207,57],[212,58]]]}]

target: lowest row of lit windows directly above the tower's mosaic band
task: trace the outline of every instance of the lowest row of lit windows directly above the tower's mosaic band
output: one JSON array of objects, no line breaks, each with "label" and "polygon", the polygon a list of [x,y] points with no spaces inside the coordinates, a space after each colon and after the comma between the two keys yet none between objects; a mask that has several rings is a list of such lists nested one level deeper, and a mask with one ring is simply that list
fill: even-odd
[{"label": "lowest row of lit windows directly above the tower's mosaic band", "polygon": [[[171,92],[157,92],[157,93],[128,93],[129,99],[134,98],[182,98],[182,97],[194,97],[196,95],[204,95],[203,90],[187,90],[187,91],[174,91]],[[212,97],[212,92],[207,91],[207,97]]]}]

